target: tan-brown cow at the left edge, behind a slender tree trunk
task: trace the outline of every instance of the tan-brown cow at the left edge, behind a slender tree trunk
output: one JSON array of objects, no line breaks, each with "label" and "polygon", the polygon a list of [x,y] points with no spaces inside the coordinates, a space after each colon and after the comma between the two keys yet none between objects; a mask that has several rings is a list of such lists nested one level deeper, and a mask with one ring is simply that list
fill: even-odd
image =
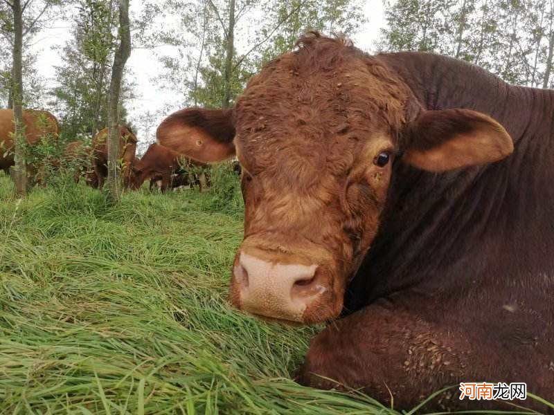
[{"label": "tan-brown cow at the left edge, behind a slender tree trunk", "polygon": [[[26,109],[23,112],[25,134],[29,145],[36,144],[46,134],[57,138],[60,126],[55,116],[48,111]],[[14,133],[13,111],[0,109],[0,169],[9,174],[9,169],[14,165],[13,139]]]}]

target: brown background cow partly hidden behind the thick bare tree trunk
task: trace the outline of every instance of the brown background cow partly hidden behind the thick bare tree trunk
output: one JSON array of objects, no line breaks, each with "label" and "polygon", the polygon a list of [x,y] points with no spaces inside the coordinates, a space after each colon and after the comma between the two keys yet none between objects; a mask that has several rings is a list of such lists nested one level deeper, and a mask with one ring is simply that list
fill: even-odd
[{"label": "brown background cow partly hidden behind the thick bare tree trunk", "polygon": [[[136,136],[129,127],[119,126],[119,154],[118,159],[121,160],[121,176],[123,177],[123,185],[129,187],[132,183],[132,164],[135,160],[136,153]],[[96,183],[100,189],[104,186],[105,179],[108,175],[108,147],[107,147],[108,129],[98,131],[92,139],[93,161],[92,167],[96,175]]]}]

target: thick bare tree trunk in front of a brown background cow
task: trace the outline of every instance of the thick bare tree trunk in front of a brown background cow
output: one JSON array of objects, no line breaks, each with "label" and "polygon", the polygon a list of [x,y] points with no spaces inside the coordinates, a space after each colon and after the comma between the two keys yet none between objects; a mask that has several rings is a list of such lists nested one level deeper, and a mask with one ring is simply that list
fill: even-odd
[{"label": "thick bare tree trunk in front of a brown background cow", "polygon": [[114,66],[111,68],[111,83],[109,86],[109,138],[108,138],[108,187],[112,201],[118,201],[120,196],[120,166],[119,158],[119,95],[123,69],[131,55],[131,32],[129,28],[129,0],[119,0],[119,38],[120,43],[114,56]]}]

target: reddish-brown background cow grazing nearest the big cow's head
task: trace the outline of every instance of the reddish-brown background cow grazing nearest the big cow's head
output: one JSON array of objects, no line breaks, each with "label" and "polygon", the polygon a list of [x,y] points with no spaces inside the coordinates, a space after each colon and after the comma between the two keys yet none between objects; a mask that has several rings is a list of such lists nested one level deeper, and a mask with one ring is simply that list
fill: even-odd
[{"label": "reddish-brown background cow grazing nearest the big cow's head", "polygon": [[134,181],[132,188],[139,189],[144,181],[150,178],[150,189],[152,189],[152,180],[154,180],[154,183],[161,180],[160,190],[162,192],[166,192],[169,187],[196,183],[200,185],[202,190],[202,182],[199,178],[194,177],[191,183],[189,175],[196,175],[188,172],[187,167],[204,165],[204,163],[188,160],[176,151],[154,142],[148,147],[141,160],[133,166]]}]

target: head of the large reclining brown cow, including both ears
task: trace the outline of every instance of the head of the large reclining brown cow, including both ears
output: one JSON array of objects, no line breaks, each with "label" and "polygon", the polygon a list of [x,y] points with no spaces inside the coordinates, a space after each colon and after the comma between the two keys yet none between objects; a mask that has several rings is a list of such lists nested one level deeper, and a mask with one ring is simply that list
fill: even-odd
[{"label": "head of the large reclining brown cow, including both ears", "polygon": [[234,109],[178,111],[157,137],[203,162],[238,157],[244,241],[231,301],[307,324],[341,312],[379,227],[395,157],[444,172],[512,152],[492,118],[424,111],[378,58],[317,35],[267,64]]}]

